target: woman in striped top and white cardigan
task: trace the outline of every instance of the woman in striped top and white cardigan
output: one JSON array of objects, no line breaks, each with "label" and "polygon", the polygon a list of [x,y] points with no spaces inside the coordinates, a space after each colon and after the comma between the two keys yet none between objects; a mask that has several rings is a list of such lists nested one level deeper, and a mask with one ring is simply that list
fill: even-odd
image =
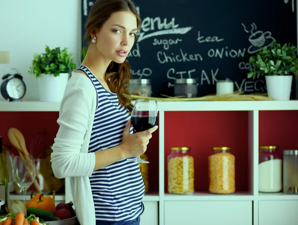
[{"label": "woman in striped top and white cardigan", "polygon": [[141,19],[131,0],[97,0],[85,24],[89,47],[61,102],[51,155],[70,177],[80,225],[139,225],[144,183],[138,163],[157,126],[133,134],[126,56]]}]

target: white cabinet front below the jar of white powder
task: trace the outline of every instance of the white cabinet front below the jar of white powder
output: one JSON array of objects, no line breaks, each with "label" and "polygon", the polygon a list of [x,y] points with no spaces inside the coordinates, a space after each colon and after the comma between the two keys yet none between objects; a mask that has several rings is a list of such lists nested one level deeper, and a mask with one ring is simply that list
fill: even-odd
[{"label": "white cabinet front below the jar of white powder", "polygon": [[298,200],[259,201],[259,225],[298,225]]}]

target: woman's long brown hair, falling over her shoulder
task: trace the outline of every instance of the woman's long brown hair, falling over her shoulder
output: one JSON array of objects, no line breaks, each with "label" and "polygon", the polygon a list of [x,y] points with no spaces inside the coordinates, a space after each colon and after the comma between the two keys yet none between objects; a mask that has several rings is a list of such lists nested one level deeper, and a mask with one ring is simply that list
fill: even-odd
[{"label": "woman's long brown hair, falling over her shoulder", "polygon": [[[138,28],[141,26],[140,15],[132,0],[97,0],[93,4],[85,24],[86,32],[84,39],[87,45],[91,41],[91,33],[94,30],[100,29],[112,13],[117,11],[131,11],[137,17]],[[105,81],[109,88],[112,92],[117,93],[119,103],[131,112],[133,107],[127,88],[132,74],[128,61],[124,61],[123,63],[112,61],[106,72]]]}]

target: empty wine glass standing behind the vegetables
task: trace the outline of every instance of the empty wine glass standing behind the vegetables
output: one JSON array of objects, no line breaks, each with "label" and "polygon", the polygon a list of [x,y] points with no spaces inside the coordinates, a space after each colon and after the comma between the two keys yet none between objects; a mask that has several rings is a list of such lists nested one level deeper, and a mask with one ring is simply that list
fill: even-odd
[{"label": "empty wine glass standing behind the vegetables", "polygon": [[24,204],[26,191],[32,185],[36,177],[36,168],[32,156],[15,156],[12,161],[12,177],[14,182],[24,192]]}]

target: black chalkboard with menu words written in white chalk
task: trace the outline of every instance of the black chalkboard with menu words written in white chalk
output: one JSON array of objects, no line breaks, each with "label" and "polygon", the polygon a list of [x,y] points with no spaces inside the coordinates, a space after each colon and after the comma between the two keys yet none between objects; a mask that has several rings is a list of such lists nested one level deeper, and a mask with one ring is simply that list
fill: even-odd
[{"label": "black chalkboard with menu words written in white chalk", "polygon": [[[95,0],[82,0],[82,35]],[[295,0],[135,0],[142,31],[127,57],[134,78],[151,79],[152,96],[174,96],[174,80],[197,78],[198,96],[232,78],[234,91],[266,92],[247,79],[249,56],[277,42],[297,45]]]}]

